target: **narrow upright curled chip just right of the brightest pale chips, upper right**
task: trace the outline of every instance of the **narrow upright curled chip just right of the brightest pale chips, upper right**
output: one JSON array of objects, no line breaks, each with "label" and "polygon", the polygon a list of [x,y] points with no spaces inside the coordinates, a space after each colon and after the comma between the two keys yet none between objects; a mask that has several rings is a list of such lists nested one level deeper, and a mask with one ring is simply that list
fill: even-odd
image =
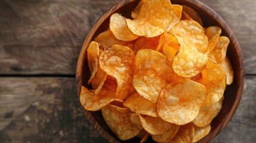
[{"label": "narrow upright curled chip just right of the brightest pale chips, upper right", "polygon": [[221,28],[218,26],[210,26],[206,29],[206,36],[208,37],[208,48],[206,50],[206,54],[211,53],[218,42],[218,38],[220,37]]}]

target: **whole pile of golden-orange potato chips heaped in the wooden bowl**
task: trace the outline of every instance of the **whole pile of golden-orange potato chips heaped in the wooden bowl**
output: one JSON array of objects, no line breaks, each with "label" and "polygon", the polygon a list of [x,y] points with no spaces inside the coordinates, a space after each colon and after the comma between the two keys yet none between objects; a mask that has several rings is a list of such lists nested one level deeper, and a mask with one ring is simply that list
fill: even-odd
[{"label": "whole pile of golden-orange potato chips heaped in the wooden bowl", "polygon": [[86,110],[101,110],[121,140],[197,142],[221,110],[233,69],[229,38],[217,26],[169,0],[141,0],[133,19],[115,13],[87,49],[91,77]]}]

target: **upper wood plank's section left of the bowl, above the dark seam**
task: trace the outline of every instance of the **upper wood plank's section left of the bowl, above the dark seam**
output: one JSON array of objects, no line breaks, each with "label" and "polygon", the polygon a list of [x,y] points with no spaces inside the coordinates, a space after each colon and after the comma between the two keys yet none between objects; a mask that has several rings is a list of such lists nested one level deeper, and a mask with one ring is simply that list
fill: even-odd
[{"label": "upper wood plank's section left of the bowl, above the dark seam", "polygon": [[0,1],[0,74],[75,74],[92,24],[112,1]]}]

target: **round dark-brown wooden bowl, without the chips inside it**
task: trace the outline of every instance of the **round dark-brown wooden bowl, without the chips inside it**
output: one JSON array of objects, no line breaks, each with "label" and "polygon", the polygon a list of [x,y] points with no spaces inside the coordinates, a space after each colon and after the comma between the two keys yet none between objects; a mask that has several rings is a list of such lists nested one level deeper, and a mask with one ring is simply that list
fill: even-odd
[{"label": "round dark-brown wooden bowl, without the chips inside it", "polygon": [[[235,71],[235,79],[232,85],[227,86],[226,91],[224,92],[224,101],[223,108],[220,113],[211,123],[211,132],[205,136],[205,138],[201,139],[199,142],[209,142],[218,133],[223,130],[227,124],[232,119],[233,114],[238,108],[240,99],[242,97],[243,85],[245,82],[245,70],[243,67],[243,55],[240,49],[240,45],[236,36],[230,29],[230,27],[226,24],[226,22],[215,13],[211,8],[207,5],[203,4],[200,1],[195,0],[171,0],[172,4],[184,4],[189,5],[194,10],[198,11],[199,15],[203,20],[203,27],[208,26],[219,26],[222,29],[221,35],[227,36],[230,39],[229,48],[227,48],[227,56],[229,57],[233,69]],[[78,63],[76,66],[76,88],[78,91],[78,97],[81,92],[81,86],[86,86],[87,81],[90,77],[90,71],[88,69],[87,64],[87,46],[89,43],[97,36],[99,33],[105,31],[107,27],[109,27],[109,18],[113,13],[121,13],[125,17],[129,17],[131,15],[131,11],[138,4],[138,0],[125,0],[120,2],[119,4],[110,8],[110,10],[106,11],[94,24],[91,28],[90,32],[87,35],[87,38],[82,45],[81,52],[79,54]],[[84,110],[87,119],[90,121],[91,125],[109,142],[139,142],[140,139],[135,137],[129,139],[128,141],[121,141],[116,137],[116,135],[107,127],[104,122],[103,116],[101,115],[101,111],[91,112]],[[147,142],[154,142],[151,138],[147,139]]]}]

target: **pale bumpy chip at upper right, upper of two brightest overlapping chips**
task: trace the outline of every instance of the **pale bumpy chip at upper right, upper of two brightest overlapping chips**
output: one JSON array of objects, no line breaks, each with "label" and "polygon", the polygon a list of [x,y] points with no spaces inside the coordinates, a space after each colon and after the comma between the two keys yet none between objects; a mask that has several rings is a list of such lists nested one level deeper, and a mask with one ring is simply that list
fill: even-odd
[{"label": "pale bumpy chip at upper right, upper of two brightest overlapping chips", "polygon": [[187,48],[204,53],[207,50],[208,38],[203,27],[196,21],[181,20],[169,31],[177,38],[178,43],[186,43]]}]

